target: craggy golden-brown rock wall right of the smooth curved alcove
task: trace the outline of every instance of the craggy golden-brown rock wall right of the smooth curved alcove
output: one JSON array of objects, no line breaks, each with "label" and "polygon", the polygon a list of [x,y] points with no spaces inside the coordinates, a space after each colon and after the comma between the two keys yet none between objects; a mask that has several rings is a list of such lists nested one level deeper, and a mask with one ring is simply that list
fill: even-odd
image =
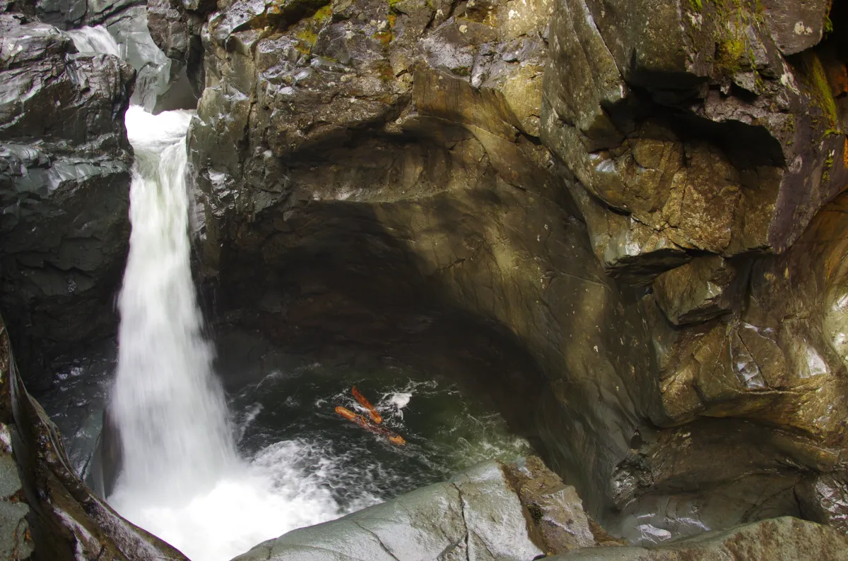
[{"label": "craggy golden-brown rock wall right of the smooth curved alcove", "polygon": [[566,0],[552,20],[542,140],[605,271],[650,285],[660,408],[614,476],[632,539],[799,493],[845,525],[843,476],[817,479],[846,445],[844,202],[823,207],[846,183],[845,43],[821,31],[844,15],[825,4]]}]

